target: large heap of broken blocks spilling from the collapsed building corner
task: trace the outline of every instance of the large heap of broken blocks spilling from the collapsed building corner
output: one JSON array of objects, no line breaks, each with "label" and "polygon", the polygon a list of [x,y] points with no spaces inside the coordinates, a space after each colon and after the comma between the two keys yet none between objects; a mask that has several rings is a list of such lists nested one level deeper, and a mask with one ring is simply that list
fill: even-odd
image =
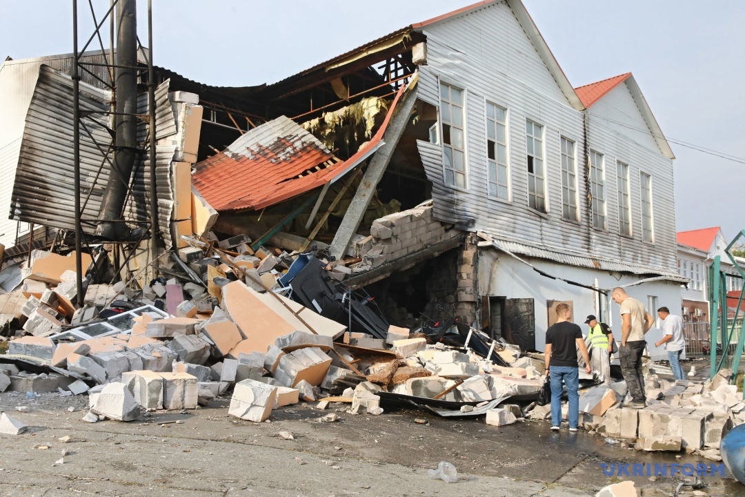
[{"label": "large heap of broken blocks spilling from the collapsed building corner", "polygon": [[[378,220],[375,240],[387,246],[396,230],[428,243],[419,217],[430,211],[421,206]],[[433,243],[448,236],[444,229],[430,235]],[[482,349],[488,341],[475,330],[467,338],[452,330],[433,338],[368,318],[371,333],[349,332],[346,314],[326,317],[313,296],[306,296],[310,306],[302,305],[302,287],[285,296],[291,278],[305,277],[303,268],[315,265],[315,276],[328,276],[323,281],[343,279],[352,273],[340,270],[347,269],[344,261],[252,250],[246,235],[182,239],[188,246],[161,269],[181,269],[183,276],[153,279],[138,290],[86,281],[79,309],[74,260],[35,253],[19,290],[25,300],[21,294],[13,300],[25,320],[15,318],[23,326],[0,356],[0,390],[88,393],[89,422],[193,409],[230,394],[229,414],[245,420],[265,420],[272,409],[301,401],[329,399],[326,405],[349,403],[353,414],[381,414],[381,403],[414,399],[504,425],[522,418],[522,408],[496,409],[498,403],[532,399],[542,387],[533,360],[520,358],[516,346],[492,343],[489,354],[475,352],[469,341]],[[370,265],[375,257],[367,252],[356,264]]]}]

